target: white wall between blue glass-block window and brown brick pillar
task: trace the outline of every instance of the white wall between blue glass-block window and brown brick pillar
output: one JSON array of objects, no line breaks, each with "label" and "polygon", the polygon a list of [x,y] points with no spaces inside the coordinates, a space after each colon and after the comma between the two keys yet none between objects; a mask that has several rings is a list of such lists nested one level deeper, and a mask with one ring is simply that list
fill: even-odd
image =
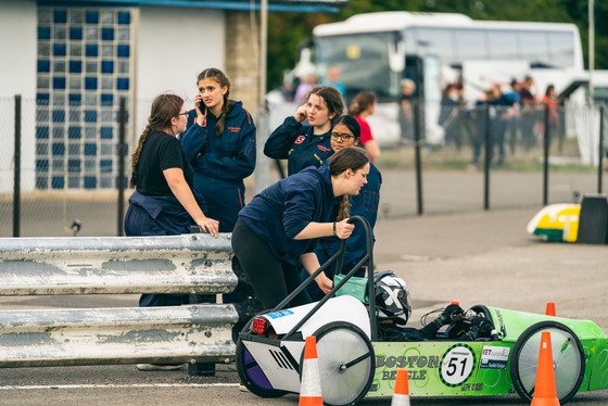
[{"label": "white wall between blue glass-block window and brown brick pillar", "polygon": [[141,7],[136,48],[135,141],[157,94],[173,91],[186,100],[187,109],[193,107],[199,73],[206,67],[224,69],[224,33],[220,10]]}]

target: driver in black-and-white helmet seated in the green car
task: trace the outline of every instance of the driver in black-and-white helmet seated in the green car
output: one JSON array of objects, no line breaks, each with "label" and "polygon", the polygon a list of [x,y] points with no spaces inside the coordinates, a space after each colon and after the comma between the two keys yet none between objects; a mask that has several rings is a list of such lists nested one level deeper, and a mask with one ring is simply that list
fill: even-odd
[{"label": "driver in black-and-white helmet seated in the green car", "polygon": [[[376,312],[378,315],[379,341],[429,341],[438,340],[438,331],[461,319],[464,310],[457,304],[445,307],[441,315],[421,329],[404,327],[411,314],[409,288],[403,279],[390,270],[373,275],[376,287]],[[490,331],[492,325],[486,318],[476,316],[468,331],[455,341],[476,341],[478,337]]]}]

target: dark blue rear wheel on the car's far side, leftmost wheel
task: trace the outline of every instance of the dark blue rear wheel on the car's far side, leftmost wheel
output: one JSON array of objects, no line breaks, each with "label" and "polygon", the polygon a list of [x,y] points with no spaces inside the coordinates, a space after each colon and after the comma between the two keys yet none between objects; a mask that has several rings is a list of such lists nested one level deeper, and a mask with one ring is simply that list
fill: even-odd
[{"label": "dark blue rear wheel on the car's far side, leftmost wheel", "polygon": [[[254,317],[255,318],[255,317]],[[251,325],[253,323],[252,318],[242,331],[251,330]],[[239,372],[239,378],[241,379],[241,384],[259,397],[281,397],[287,392],[277,391],[273,389],[270,382],[266,378],[266,375],[257,365],[257,361],[251,356],[250,352],[246,350],[243,341],[239,339],[237,342],[237,355],[236,355],[237,371]]]}]

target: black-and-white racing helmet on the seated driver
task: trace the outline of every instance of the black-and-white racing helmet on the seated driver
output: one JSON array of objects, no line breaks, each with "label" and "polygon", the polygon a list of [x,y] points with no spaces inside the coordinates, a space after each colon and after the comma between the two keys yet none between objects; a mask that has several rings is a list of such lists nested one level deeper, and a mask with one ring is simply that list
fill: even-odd
[{"label": "black-and-white racing helmet on the seated driver", "polygon": [[373,275],[373,287],[378,319],[406,325],[411,314],[407,283],[392,270],[383,270]]}]

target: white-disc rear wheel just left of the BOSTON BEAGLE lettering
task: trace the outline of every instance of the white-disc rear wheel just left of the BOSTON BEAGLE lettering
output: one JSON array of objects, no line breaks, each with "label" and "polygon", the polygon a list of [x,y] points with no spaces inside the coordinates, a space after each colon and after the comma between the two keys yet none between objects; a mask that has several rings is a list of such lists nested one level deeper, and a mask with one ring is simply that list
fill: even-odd
[{"label": "white-disc rear wheel just left of the BOSTON BEAGLE lettering", "polygon": [[[360,401],[371,385],[376,365],[373,347],[366,333],[350,322],[335,321],[313,335],[317,338],[324,404],[342,406]],[[300,377],[302,379],[302,367]]]}]

